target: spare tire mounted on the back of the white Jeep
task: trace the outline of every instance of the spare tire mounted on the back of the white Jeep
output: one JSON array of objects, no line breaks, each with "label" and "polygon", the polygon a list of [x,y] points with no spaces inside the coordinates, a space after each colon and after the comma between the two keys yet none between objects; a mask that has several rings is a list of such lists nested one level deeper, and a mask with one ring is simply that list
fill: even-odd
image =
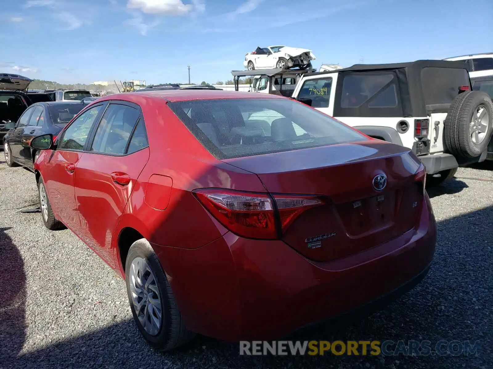
[{"label": "spare tire mounted on the back of the white Jeep", "polygon": [[490,96],[482,91],[462,92],[452,102],[444,122],[445,145],[451,154],[477,157],[486,150],[492,130]]}]

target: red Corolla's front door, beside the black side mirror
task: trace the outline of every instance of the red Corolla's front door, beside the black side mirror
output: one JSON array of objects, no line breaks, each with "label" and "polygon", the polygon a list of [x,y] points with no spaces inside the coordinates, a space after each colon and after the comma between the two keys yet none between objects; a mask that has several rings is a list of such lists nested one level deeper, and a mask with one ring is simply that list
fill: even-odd
[{"label": "red Corolla's front door, beside the black side mirror", "polygon": [[[93,125],[98,122],[107,104],[91,106],[79,114],[57,139],[57,147],[44,158],[41,173],[55,216],[76,235],[80,235],[80,220],[75,202],[76,166],[84,155],[84,147]],[[80,236],[79,236],[80,237]]]}]

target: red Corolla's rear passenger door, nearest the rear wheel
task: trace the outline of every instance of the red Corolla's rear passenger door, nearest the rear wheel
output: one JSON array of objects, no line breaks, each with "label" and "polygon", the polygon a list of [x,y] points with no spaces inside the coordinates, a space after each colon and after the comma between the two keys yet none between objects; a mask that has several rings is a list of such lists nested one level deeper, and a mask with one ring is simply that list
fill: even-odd
[{"label": "red Corolla's rear passenger door, nearest the rear wheel", "polygon": [[79,237],[114,267],[114,230],[149,158],[140,107],[111,102],[91,140],[75,175]]}]

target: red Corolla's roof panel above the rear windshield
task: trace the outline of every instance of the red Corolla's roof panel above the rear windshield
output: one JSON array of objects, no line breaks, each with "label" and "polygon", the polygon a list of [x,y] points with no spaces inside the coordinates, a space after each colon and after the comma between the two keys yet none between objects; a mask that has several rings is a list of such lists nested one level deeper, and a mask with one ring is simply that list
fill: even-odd
[{"label": "red Corolla's roof panel above the rear windshield", "polygon": [[[159,90],[145,92],[116,93],[105,96],[104,100],[133,100],[133,97],[163,97],[168,101],[206,100],[225,98],[283,98],[269,93],[252,93],[224,90]],[[99,100],[99,99],[98,99]],[[103,100],[103,99],[101,99]],[[101,101],[99,100],[99,101]]]}]

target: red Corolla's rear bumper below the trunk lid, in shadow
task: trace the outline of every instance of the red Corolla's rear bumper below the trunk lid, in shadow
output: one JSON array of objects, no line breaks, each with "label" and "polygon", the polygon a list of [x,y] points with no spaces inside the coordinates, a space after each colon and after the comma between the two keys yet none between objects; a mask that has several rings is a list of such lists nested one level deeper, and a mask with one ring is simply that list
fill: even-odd
[{"label": "red Corolla's rear bumper below the trunk lid, in shadow", "polygon": [[194,250],[153,247],[187,327],[236,341],[279,338],[407,292],[426,275],[435,241],[427,199],[417,228],[328,262],[231,233]]}]

